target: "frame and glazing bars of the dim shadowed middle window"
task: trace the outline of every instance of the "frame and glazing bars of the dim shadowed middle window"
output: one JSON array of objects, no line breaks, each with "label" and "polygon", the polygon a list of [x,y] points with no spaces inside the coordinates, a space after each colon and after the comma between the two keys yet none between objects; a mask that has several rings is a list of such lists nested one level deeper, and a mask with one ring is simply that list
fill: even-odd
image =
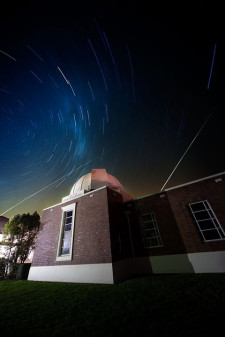
[{"label": "frame and glazing bars of the dim shadowed middle window", "polygon": [[[148,220],[148,221],[144,221],[143,217],[146,216],[146,215],[150,215],[151,219]],[[158,247],[163,247],[163,242],[162,242],[162,237],[161,237],[161,234],[160,234],[160,231],[159,231],[159,227],[158,227],[158,223],[157,223],[157,220],[156,220],[156,216],[155,216],[155,213],[154,212],[149,212],[149,213],[143,213],[141,215],[141,222],[142,222],[142,236],[143,236],[143,241],[144,241],[144,247],[145,248],[158,248]],[[146,229],[145,228],[145,223],[152,223],[154,225],[154,228],[152,229]],[[148,230],[154,230],[155,231],[155,236],[153,238],[157,239],[158,241],[158,245],[149,245],[147,244],[147,242],[150,241],[150,238],[148,238],[146,236],[146,232]]]}]

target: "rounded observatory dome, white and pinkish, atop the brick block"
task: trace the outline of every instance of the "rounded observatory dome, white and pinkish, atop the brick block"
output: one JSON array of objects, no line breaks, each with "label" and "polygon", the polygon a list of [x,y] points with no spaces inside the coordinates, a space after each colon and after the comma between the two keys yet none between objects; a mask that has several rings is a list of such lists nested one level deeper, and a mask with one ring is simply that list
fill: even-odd
[{"label": "rounded observatory dome, white and pinkish, atop the brick block", "polygon": [[70,195],[85,193],[103,186],[120,193],[124,201],[133,199],[125,192],[123,185],[114,176],[108,174],[105,169],[93,169],[91,173],[82,176],[73,185]]}]

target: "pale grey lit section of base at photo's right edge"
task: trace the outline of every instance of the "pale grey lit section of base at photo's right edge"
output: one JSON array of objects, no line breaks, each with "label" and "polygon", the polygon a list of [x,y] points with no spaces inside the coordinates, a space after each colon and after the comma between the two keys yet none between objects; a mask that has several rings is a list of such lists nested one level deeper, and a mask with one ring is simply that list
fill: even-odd
[{"label": "pale grey lit section of base at photo's right edge", "polygon": [[225,273],[225,251],[191,253],[188,258],[195,273]]}]

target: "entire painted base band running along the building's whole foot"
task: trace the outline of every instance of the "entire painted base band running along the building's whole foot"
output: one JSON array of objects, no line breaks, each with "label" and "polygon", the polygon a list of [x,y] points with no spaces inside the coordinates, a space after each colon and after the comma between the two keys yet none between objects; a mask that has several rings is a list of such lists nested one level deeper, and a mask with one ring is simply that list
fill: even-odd
[{"label": "entire painted base band running along the building's whole foot", "polygon": [[130,258],[112,263],[30,268],[29,281],[113,284],[132,275],[225,273],[225,251]]}]

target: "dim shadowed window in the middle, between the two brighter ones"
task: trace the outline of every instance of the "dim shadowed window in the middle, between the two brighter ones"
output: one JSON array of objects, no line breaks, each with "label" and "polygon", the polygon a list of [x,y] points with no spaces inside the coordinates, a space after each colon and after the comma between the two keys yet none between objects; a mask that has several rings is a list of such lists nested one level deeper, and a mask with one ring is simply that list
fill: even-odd
[{"label": "dim shadowed window in the middle, between the two brighter ones", "polygon": [[142,215],[142,233],[145,248],[163,246],[155,213],[152,212]]}]

